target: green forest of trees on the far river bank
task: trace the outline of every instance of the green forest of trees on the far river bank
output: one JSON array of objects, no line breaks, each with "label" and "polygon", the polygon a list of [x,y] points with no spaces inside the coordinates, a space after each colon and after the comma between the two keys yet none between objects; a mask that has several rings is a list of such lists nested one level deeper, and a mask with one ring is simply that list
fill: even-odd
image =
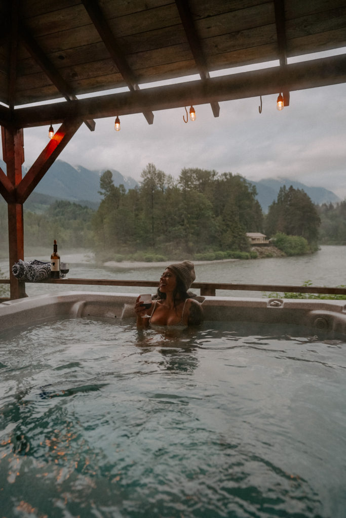
[{"label": "green forest of trees on the far river bank", "polygon": [[[264,214],[254,185],[231,172],[185,168],[174,179],[148,164],[140,186],[127,191],[105,171],[99,193],[97,210],[66,200],[41,213],[24,205],[24,246],[57,239],[64,250],[92,250],[100,261],[157,261],[255,257],[247,232],[266,234],[288,255],[346,243],[346,201],[315,206],[303,190],[283,187]],[[1,202],[0,242],[7,244],[7,232]]]}]

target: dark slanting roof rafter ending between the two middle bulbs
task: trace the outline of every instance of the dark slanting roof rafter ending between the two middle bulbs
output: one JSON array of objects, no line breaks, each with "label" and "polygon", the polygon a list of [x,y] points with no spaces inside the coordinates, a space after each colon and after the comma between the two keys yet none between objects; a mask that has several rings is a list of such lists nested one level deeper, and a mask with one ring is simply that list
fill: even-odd
[{"label": "dark slanting roof rafter ending between the two middle bulbs", "polygon": [[[110,57],[112,57],[112,60],[116,64],[129,90],[131,92],[139,90],[140,87],[136,82],[135,75],[133,74],[133,71],[131,70],[126,58],[124,57],[123,52],[121,51],[112,31],[110,30],[108,23],[105,21],[98,2],[95,2],[94,0],[82,0],[82,4],[86,8],[92,23],[98,31],[106,49],[109,52]],[[143,115],[146,118],[148,124],[153,124],[154,113],[152,111],[146,110],[143,112]]]}]

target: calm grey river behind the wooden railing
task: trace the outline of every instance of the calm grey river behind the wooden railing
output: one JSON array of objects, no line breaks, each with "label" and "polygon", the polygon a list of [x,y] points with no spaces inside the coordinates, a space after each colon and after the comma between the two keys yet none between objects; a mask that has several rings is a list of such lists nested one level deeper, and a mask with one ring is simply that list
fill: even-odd
[{"label": "calm grey river behind the wooden railing", "polygon": [[[89,279],[126,279],[150,280],[159,279],[166,263],[118,263],[99,266],[94,263],[93,255],[66,254],[60,251],[62,260],[70,264],[70,278]],[[46,257],[26,257],[27,260]],[[345,285],[346,246],[321,246],[312,255],[295,257],[272,257],[256,260],[229,260],[214,262],[196,262],[196,281],[223,282],[244,284],[291,284],[302,285],[310,280],[315,286]],[[8,275],[8,262],[0,261],[0,268]],[[149,289],[153,292],[154,289]],[[26,283],[27,295],[57,293],[61,291],[106,291],[138,293],[137,287],[124,286],[88,286],[88,285],[50,285]],[[143,291],[143,288],[141,289]],[[144,290],[145,291],[145,290]],[[199,293],[199,290],[196,290]],[[220,296],[261,297],[261,292],[217,291]]]}]

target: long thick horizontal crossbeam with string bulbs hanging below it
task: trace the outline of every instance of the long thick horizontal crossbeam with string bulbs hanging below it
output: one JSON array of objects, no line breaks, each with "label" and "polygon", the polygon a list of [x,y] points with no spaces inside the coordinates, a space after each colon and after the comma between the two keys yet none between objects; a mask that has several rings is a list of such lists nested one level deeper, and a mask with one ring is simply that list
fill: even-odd
[{"label": "long thick horizontal crossbeam with string bulbs hanging below it", "polygon": [[61,122],[68,117],[103,118],[141,113],[145,109],[167,110],[188,103],[208,104],[278,93],[282,84],[290,91],[346,82],[346,54],[324,57],[282,67],[253,70],[242,74],[190,81],[136,92],[121,92],[15,110],[18,127]]}]

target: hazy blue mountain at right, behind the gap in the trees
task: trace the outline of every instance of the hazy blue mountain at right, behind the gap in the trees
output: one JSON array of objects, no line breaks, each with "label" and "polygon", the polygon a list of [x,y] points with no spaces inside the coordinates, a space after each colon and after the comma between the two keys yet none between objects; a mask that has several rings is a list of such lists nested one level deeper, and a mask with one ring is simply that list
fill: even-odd
[{"label": "hazy blue mountain at right, behind the gap in the trees", "polygon": [[268,212],[269,205],[276,200],[280,188],[284,185],[287,189],[290,185],[292,185],[294,189],[302,189],[316,205],[322,205],[323,203],[337,203],[341,201],[334,192],[328,191],[328,189],[325,189],[324,187],[309,187],[308,185],[295,180],[289,180],[288,178],[265,178],[258,182],[250,181],[250,183],[256,187],[256,198],[264,212]]}]

